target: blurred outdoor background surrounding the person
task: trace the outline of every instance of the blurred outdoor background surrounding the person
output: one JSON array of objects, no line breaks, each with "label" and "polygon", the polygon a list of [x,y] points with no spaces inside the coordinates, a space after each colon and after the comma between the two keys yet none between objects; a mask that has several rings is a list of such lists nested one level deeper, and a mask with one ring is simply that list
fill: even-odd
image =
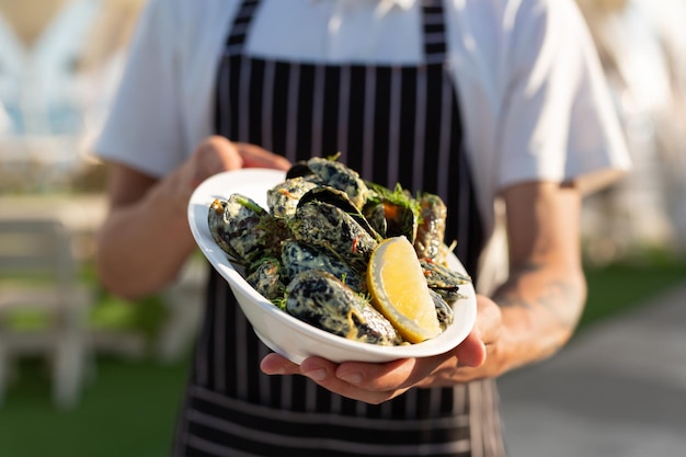
[{"label": "blurred outdoor background surrounding the person", "polygon": [[[686,2],[578,2],[598,46],[636,168],[627,179],[586,201],[583,237],[590,298],[578,335],[554,363],[523,369],[501,382],[506,435],[512,437],[515,457],[551,455],[546,439],[530,438],[541,433],[556,446],[560,439],[576,446],[568,454],[556,447],[557,456],[633,455],[604,438],[596,443],[602,454],[591,448],[579,452],[580,442],[593,441],[588,421],[598,421],[597,410],[556,405],[551,398],[563,389],[558,384],[563,377],[579,389],[575,403],[598,407],[590,397],[598,386],[591,368],[609,359],[621,363],[618,369],[626,382],[627,373],[643,370],[637,365],[641,359],[655,359],[653,352],[645,357],[638,352],[655,345],[663,356],[673,357],[671,372],[664,375],[671,388],[668,400],[655,404],[658,400],[648,399],[653,402],[653,408],[645,407],[652,411],[650,421],[642,408],[631,409],[636,421],[627,425],[648,430],[643,422],[652,421],[674,435],[686,430],[683,408],[667,408],[664,416],[655,416],[654,411],[665,404],[686,404],[682,336],[686,329],[674,328],[686,325],[686,311],[679,311],[686,308],[686,292],[678,294],[686,286]],[[198,297],[205,265],[199,258],[191,261],[178,284],[135,304],[110,296],[92,269],[93,235],[105,205],[102,164],[89,157],[89,150],[144,3],[0,0],[3,457],[168,454],[202,313]],[[674,309],[675,304],[679,309]],[[661,307],[668,308],[670,319],[644,315],[666,316]],[[599,335],[608,334],[617,336],[598,342]],[[637,344],[637,335],[645,344]],[[622,338],[633,345],[619,344]],[[601,357],[599,362],[590,362],[588,354]],[[567,372],[559,370],[562,365]],[[570,366],[579,367],[585,377],[574,378],[576,368]],[[538,397],[531,393],[531,377],[557,386],[550,398],[545,389],[537,391]],[[595,393],[636,398],[634,391],[615,387],[610,384],[607,391]],[[660,391],[662,385],[639,387],[638,391]],[[627,411],[617,407],[626,403],[622,400],[631,401],[618,397],[617,403],[599,408],[615,409],[626,420]],[[537,409],[541,404],[554,410],[564,430],[547,420],[545,413],[551,411],[541,412]],[[616,424],[617,418],[606,414],[601,421]],[[606,436],[627,443],[627,435]],[[656,436],[665,443],[663,434]],[[661,454],[660,445],[655,446],[653,455],[676,455]]]}]

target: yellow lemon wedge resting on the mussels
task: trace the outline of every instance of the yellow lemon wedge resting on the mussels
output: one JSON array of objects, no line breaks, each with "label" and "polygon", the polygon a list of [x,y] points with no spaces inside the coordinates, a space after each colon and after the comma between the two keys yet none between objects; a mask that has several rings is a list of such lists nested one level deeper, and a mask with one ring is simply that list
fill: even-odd
[{"label": "yellow lemon wedge resting on the mussels", "polygon": [[403,236],[381,241],[367,267],[371,304],[410,343],[437,336],[441,324],[412,243]]}]

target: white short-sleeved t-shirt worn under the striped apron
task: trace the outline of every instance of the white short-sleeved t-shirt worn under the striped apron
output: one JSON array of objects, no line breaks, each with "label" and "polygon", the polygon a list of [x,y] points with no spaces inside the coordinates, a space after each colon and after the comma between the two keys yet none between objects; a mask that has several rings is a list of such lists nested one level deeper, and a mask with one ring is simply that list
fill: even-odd
[{"label": "white short-sleeved t-shirt worn under the striped apron", "polygon": [[[106,159],[162,176],[213,134],[214,85],[239,0],[149,0],[111,115]],[[264,0],[247,53],[325,62],[420,64],[416,0]],[[487,228],[499,190],[628,169],[603,70],[573,0],[446,0],[448,65]],[[278,152],[278,151],[276,151]]]}]

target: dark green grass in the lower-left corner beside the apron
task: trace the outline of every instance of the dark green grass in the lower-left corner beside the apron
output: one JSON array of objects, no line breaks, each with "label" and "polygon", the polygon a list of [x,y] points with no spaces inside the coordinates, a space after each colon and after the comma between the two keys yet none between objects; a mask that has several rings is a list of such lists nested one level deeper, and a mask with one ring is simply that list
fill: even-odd
[{"label": "dark green grass in the lower-left corner beside the apron", "polygon": [[99,359],[79,404],[60,411],[44,365],[25,362],[0,410],[0,455],[165,457],[186,365]]}]

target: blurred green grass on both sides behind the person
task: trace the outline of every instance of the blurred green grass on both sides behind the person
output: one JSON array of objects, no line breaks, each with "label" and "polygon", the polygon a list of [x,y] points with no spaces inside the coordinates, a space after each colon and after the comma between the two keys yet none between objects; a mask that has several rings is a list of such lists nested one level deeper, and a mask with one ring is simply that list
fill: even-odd
[{"label": "blurred green grass on both sides behind the person", "polygon": [[[686,262],[650,261],[588,266],[588,304],[581,329],[638,307],[686,278]],[[159,317],[146,311],[122,317],[116,304],[101,310],[102,321],[137,322]],[[43,364],[21,366],[21,378],[0,409],[2,457],[163,457],[169,454],[187,361],[160,364],[146,358],[101,357],[90,386],[70,411],[54,408]]]}]

